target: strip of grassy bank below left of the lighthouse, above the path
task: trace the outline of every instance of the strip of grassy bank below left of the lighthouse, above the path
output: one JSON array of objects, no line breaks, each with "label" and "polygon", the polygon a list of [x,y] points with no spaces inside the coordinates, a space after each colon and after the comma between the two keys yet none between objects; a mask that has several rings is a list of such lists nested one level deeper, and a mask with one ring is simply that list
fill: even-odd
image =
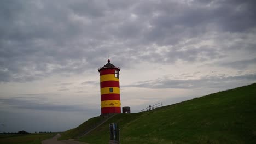
[{"label": "strip of grassy bank below left of the lighthouse, above the path", "polygon": [[102,121],[103,117],[93,117],[88,119],[88,121],[79,125],[77,128],[70,129],[61,134],[58,140],[74,139],[74,137],[82,134],[86,129],[96,125],[98,122]]}]

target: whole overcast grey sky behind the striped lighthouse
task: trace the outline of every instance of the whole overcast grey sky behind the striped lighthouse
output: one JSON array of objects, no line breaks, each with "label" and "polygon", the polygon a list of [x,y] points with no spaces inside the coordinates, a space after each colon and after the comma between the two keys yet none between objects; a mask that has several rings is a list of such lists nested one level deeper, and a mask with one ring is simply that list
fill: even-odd
[{"label": "whole overcast grey sky behind the striped lighthouse", "polygon": [[121,67],[139,112],[256,82],[256,3],[0,1],[2,131],[64,131],[100,115],[100,77]]}]

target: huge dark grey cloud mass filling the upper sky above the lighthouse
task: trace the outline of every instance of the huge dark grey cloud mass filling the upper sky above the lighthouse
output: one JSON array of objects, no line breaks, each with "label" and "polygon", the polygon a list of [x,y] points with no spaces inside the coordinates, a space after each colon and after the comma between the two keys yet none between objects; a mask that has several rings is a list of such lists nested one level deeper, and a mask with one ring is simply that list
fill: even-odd
[{"label": "huge dark grey cloud mass filling the upper sky above the lighthouse", "polygon": [[[254,7],[254,1],[1,1],[0,81],[91,73],[108,55],[120,67],[222,58],[232,51],[221,47],[223,33],[233,40],[255,32]],[[219,35],[208,39],[220,46],[193,45],[212,33]],[[195,40],[182,45],[187,39]],[[252,52],[255,43],[237,45]],[[168,50],[156,52],[159,46]]]}]

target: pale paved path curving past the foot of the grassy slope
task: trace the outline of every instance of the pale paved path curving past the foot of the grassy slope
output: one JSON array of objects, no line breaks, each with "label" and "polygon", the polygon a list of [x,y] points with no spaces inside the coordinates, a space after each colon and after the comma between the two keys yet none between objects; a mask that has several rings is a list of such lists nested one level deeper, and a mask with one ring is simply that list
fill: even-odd
[{"label": "pale paved path curving past the foot of the grassy slope", "polygon": [[86,144],[84,142],[79,142],[79,141],[74,141],[74,140],[62,140],[62,141],[57,141],[57,139],[61,137],[60,134],[55,135],[51,139],[43,140],[41,143],[42,144]]}]

